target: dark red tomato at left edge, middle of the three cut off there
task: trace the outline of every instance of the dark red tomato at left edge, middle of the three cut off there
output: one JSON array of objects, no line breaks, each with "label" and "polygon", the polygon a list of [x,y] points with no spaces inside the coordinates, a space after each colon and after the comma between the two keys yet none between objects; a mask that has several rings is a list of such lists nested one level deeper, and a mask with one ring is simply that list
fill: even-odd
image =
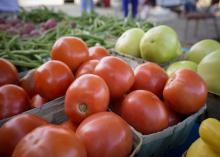
[{"label": "dark red tomato at left edge, middle of the three cut off there", "polygon": [[27,93],[19,86],[6,84],[0,87],[0,120],[30,108]]}]

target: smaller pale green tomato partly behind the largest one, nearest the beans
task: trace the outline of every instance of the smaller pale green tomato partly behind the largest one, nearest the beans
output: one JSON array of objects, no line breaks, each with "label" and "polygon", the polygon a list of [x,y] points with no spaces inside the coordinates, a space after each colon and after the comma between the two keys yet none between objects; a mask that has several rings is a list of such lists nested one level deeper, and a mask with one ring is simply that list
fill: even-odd
[{"label": "smaller pale green tomato partly behind the largest one, nearest the beans", "polygon": [[117,40],[115,50],[140,57],[140,40],[144,35],[144,31],[140,28],[131,28],[125,31]]}]

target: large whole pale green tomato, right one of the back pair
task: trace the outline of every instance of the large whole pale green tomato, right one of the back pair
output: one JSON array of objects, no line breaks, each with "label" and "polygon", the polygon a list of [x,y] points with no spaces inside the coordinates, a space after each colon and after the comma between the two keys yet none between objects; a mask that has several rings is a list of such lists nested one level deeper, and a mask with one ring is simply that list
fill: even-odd
[{"label": "large whole pale green tomato, right one of the back pair", "polygon": [[177,58],[178,47],[180,45],[176,32],[165,25],[151,28],[140,42],[141,57],[159,64]]}]

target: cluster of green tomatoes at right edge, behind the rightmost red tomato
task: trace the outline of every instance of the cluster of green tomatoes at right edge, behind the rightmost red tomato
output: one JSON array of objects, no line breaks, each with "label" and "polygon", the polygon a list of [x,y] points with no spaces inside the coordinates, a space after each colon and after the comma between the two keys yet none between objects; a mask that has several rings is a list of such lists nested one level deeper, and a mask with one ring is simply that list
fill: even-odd
[{"label": "cluster of green tomatoes at right edge, behind the rightmost red tomato", "polygon": [[181,68],[191,69],[203,78],[209,92],[220,95],[220,43],[212,39],[201,40],[185,55],[185,60],[168,66],[167,74],[172,75]]}]

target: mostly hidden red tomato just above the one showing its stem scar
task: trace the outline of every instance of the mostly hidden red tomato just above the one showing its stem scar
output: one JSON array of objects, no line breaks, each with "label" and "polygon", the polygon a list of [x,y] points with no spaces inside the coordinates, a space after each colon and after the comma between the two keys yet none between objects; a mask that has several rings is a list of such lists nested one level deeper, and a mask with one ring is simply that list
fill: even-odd
[{"label": "mostly hidden red tomato just above the one showing its stem scar", "polygon": [[83,74],[93,74],[96,65],[99,63],[98,60],[88,60],[84,62],[76,71],[76,77],[79,77]]}]

